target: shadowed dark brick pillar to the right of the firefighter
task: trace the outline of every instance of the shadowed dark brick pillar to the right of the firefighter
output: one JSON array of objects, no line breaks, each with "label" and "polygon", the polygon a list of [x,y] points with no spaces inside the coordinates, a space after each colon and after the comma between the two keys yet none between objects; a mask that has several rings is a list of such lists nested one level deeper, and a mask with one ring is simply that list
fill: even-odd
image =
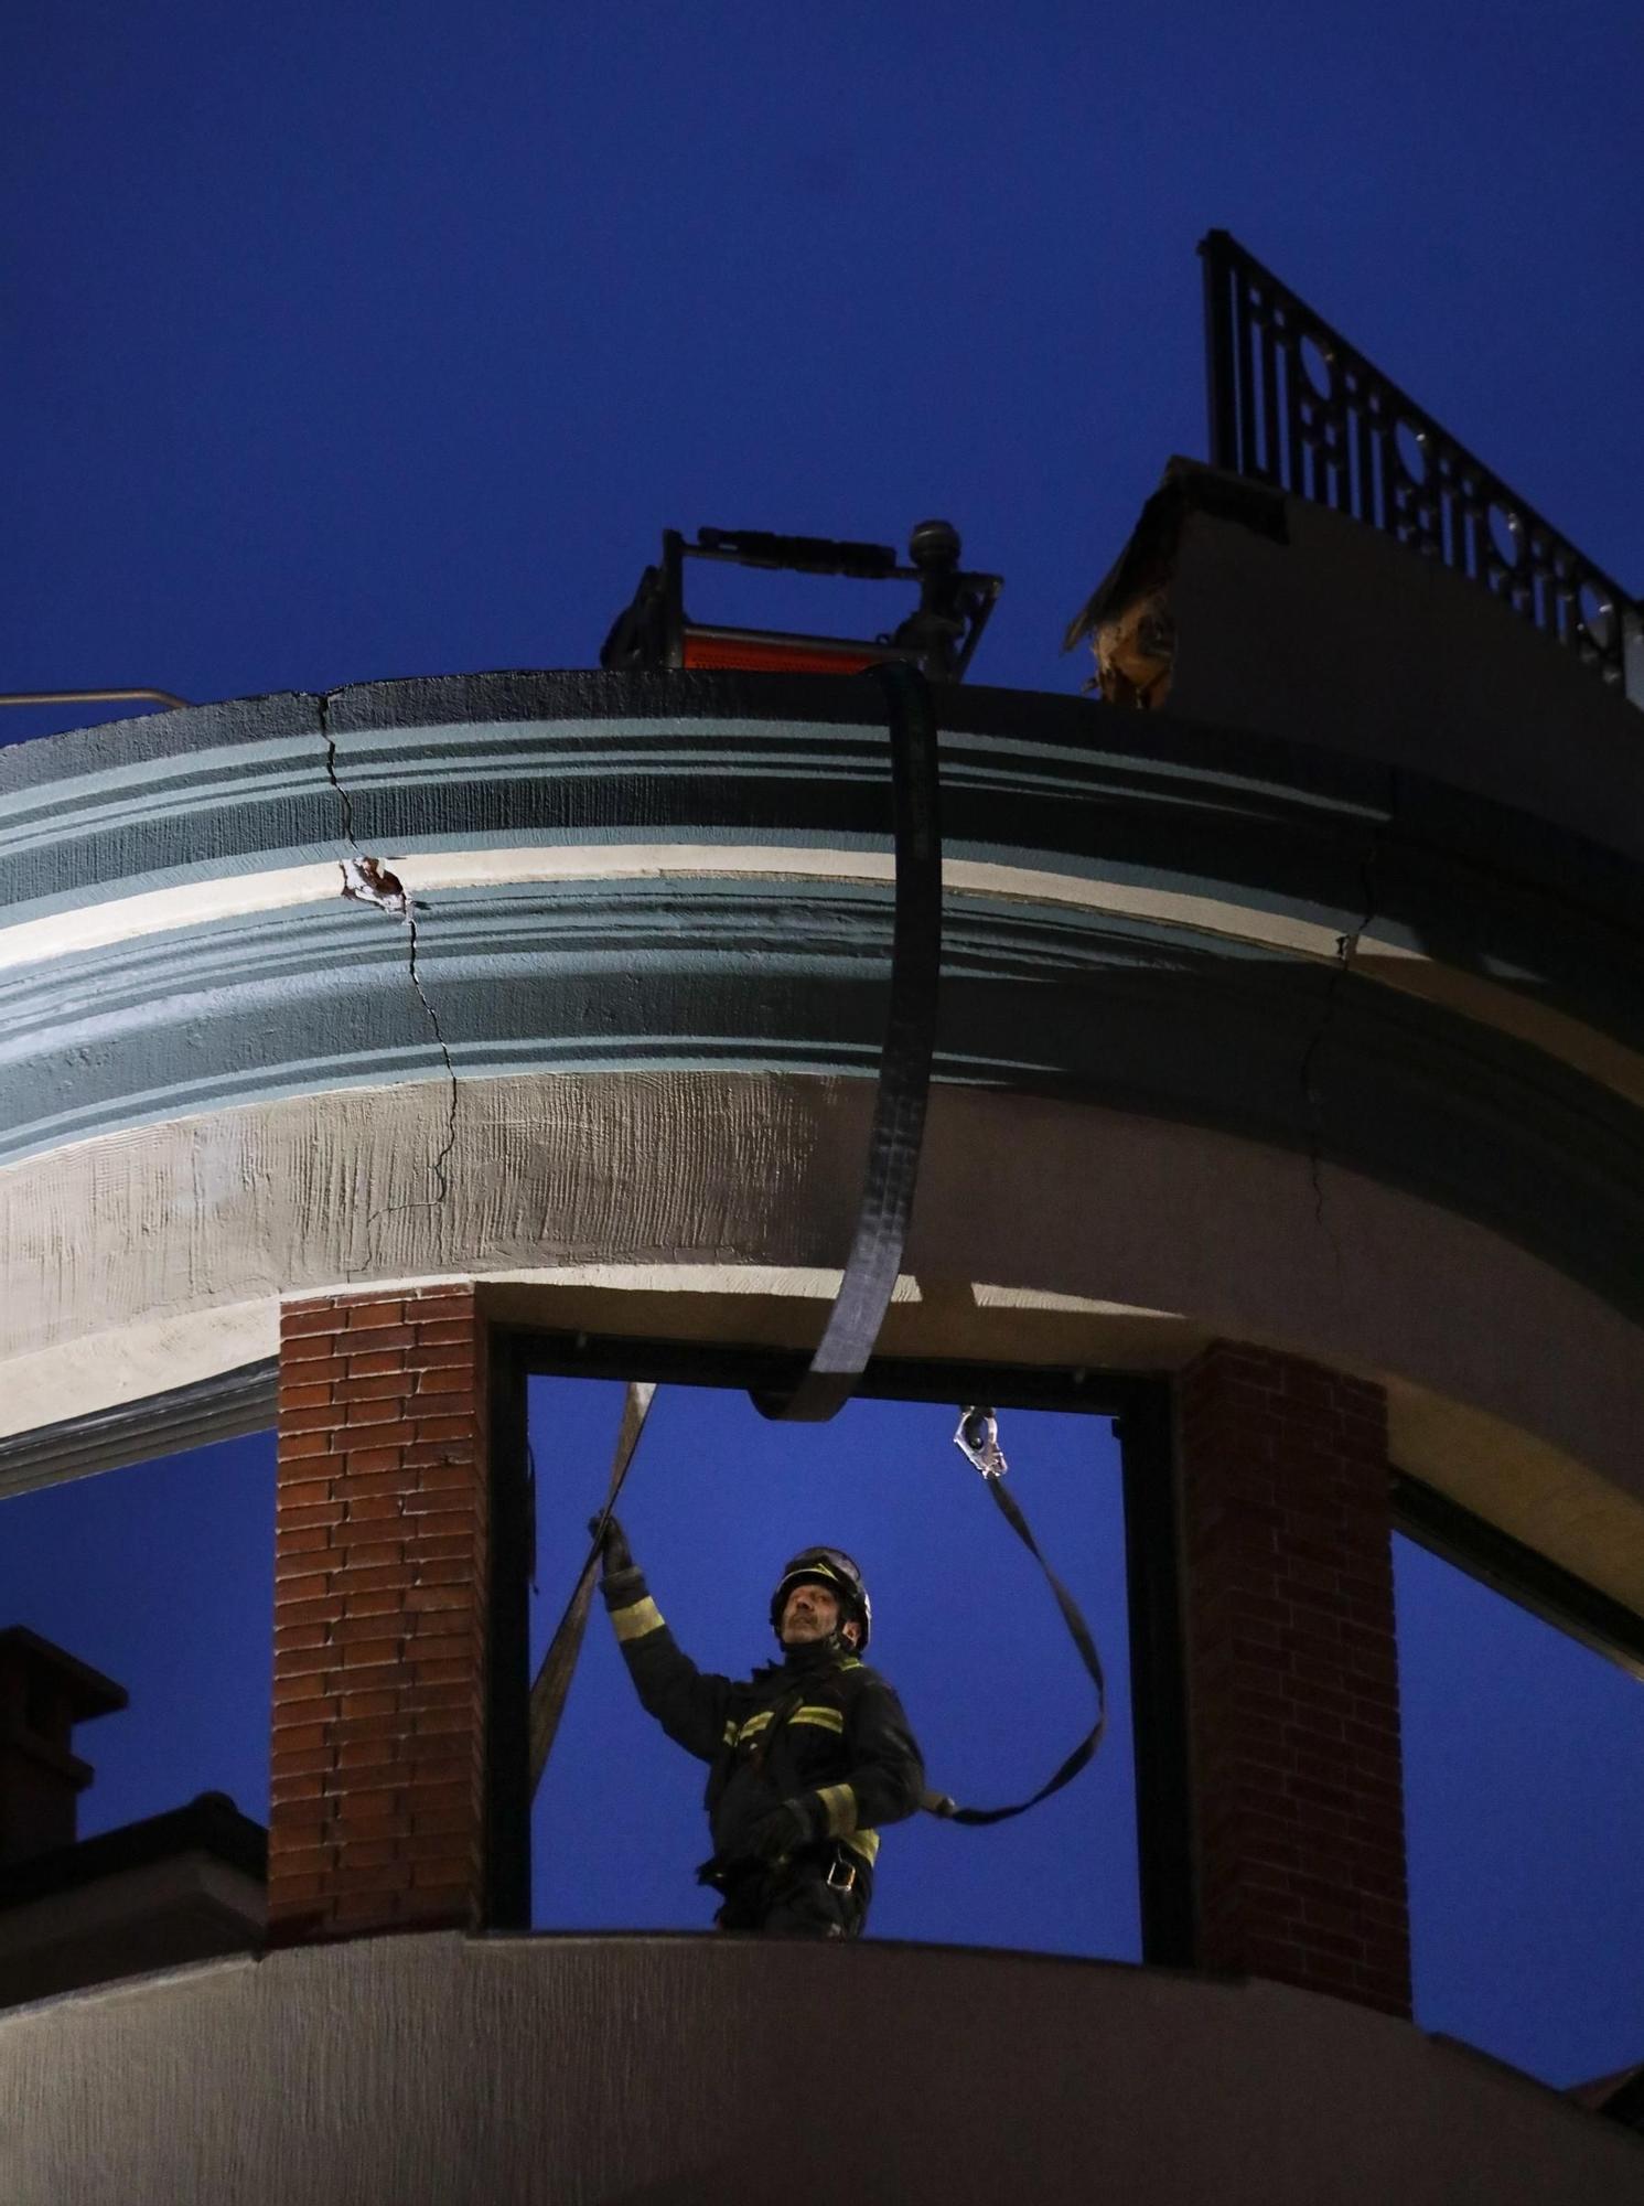
[{"label": "shadowed dark brick pillar to the right of the firefighter", "polygon": [[1386,1399],[1216,1341],[1179,1407],[1199,1959],[1408,2014]]}]

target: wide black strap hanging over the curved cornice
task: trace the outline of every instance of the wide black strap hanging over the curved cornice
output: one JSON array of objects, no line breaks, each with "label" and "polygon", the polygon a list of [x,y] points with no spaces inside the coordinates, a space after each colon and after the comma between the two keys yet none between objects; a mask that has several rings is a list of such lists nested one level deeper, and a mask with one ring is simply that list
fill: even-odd
[{"label": "wide black strap hanging over the curved cornice", "polygon": [[868,1163],[851,1255],[815,1354],[789,1390],[751,1394],[765,1416],[824,1423],[855,1392],[879,1339],[908,1244],[912,1193],[937,1048],[941,977],[941,812],[937,710],[930,684],[899,660],[870,666],[890,717],[890,801],[897,849],[897,915],[890,949],[890,1015],[879,1052]]}]

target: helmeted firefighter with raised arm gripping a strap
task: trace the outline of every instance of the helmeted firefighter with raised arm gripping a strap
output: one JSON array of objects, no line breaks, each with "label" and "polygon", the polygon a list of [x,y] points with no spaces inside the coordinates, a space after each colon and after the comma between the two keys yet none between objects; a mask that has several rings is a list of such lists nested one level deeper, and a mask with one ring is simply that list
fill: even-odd
[{"label": "helmeted firefighter with raised arm gripping a strap", "polygon": [[679,1650],[615,1518],[602,1591],[641,1703],[710,1765],[699,1880],[723,1895],[718,1928],[857,1937],[879,1829],[915,1813],[926,1776],[901,1701],[862,1661],[873,1608],[855,1562],[807,1546],[787,1564],[771,1595],[782,1659],[747,1683]]}]

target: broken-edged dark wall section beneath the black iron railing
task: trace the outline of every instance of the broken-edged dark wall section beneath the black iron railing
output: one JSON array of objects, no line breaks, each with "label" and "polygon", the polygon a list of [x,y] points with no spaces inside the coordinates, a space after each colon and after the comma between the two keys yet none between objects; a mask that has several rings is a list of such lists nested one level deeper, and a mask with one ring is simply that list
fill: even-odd
[{"label": "broken-edged dark wall section beneath the black iron railing", "polygon": [[1454,567],[1172,459],[1067,631],[1106,704],[1349,752],[1644,860],[1640,706]]}]

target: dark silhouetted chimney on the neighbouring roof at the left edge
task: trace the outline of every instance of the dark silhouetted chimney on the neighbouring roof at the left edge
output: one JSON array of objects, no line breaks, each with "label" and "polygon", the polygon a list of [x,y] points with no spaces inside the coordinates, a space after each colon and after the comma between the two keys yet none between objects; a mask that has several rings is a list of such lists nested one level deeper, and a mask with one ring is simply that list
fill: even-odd
[{"label": "dark silhouetted chimney on the neighbouring roof at the left edge", "polygon": [[0,1632],[0,1868],[73,1846],[93,1769],[68,1738],[126,1701],[123,1685],[26,1626]]}]

